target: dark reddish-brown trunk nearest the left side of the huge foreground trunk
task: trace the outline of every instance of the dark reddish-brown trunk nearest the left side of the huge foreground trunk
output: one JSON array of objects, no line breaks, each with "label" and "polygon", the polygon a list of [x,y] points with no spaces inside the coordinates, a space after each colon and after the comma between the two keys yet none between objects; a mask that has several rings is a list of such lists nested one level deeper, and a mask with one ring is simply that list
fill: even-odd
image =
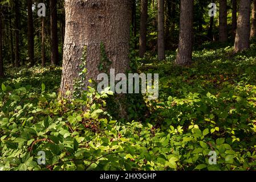
[{"label": "dark reddish-brown trunk nearest the left side of the huge foreground trunk", "polygon": [[58,51],[58,25],[57,25],[57,1],[50,0],[50,24],[51,24],[51,64],[58,64],[59,51]]}]

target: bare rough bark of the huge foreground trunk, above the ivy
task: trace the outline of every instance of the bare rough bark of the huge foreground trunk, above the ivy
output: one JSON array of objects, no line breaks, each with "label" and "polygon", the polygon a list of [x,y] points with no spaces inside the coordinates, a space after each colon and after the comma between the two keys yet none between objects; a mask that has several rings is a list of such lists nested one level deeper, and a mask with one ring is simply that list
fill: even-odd
[{"label": "bare rough bark of the huge foreground trunk, above the ivy", "polygon": [[[79,66],[84,47],[87,47],[86,80],[96,80],[99,73],[100,44],[112,62],[115,73],[125,73],[129,63],[130,0],[67,0],[66,34],[64,40],[63,72],[60,93],[74,91],[74,82],[80,79]],[[109,68],[109,69],[110,69]],[[87,83],[88,84],[88,83]]]}]

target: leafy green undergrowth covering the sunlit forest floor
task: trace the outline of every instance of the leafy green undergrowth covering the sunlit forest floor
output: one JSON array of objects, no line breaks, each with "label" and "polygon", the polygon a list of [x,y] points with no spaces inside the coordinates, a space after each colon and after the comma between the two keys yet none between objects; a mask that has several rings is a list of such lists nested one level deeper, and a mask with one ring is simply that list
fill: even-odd
[{"label": "leafy green undergrowth covering the sunlit forest floor", "polygon": [[[190,67],[174,59],[175,52],[161,62],[136,59],[140,72],[160,78],[159,99],[145,97],[151,115],[144,122],[113,120],[94,89],[86,101],[58,100],[60,67],[7,68],[0,80],[0,168],[256,169],[256,45],[233,53],[231,45],[204,44]],[[45,165],[36,163],[39,151]]]}]

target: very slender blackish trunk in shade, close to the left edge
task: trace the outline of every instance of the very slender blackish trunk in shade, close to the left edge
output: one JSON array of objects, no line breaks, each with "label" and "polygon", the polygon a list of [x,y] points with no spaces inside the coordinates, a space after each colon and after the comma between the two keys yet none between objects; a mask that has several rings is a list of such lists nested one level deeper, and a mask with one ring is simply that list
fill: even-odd
[{"label": "very slender blackish trunk in shade, close to the left edge", "polygon": [[19,0],[15,0],[14,5],[15,11],[15,67],[19,67],[20,56],[19,56],[19,23],[20,23],[20,15],[19,15]]}]

